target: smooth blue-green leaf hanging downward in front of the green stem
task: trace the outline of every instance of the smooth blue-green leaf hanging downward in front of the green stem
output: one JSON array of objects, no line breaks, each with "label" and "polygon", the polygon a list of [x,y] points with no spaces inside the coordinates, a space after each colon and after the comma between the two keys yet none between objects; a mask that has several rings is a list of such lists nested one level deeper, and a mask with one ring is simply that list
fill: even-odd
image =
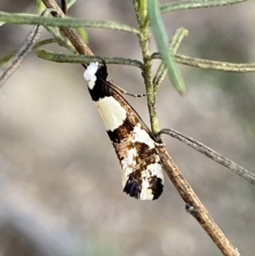
[{"label": "smooth blue-green leaf hanging downward in front of the green stem", "polygon": [[161,20],[161,13],[159,3],[157,0],[148,0],[148,10],[150,16],[150,26],[154,35],[157,48],[161,53],[162,60],[165,62],[168,70],[168,76],[173,83],[174,88],[178,90],[179,94],[184,94],[184,80],[180,72],[176,68],[171,55],[168,52],[168,38],[163,21]]}]

